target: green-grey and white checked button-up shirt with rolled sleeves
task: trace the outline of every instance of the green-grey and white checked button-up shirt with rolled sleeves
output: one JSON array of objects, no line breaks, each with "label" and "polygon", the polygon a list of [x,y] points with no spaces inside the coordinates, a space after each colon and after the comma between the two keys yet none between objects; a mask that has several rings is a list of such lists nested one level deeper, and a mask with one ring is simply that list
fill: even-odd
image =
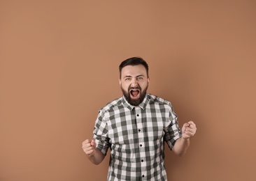
[{"label": "green-grey and white checked button-up shirt with rolled sleeves", "polygon": [[181,136],[171,103],[150,94],[138,107],[125,97],[108,103],[99,111],[93,133],[104,155],[111,148],[111,181],[167,180],[164,141],[171,149]]}]

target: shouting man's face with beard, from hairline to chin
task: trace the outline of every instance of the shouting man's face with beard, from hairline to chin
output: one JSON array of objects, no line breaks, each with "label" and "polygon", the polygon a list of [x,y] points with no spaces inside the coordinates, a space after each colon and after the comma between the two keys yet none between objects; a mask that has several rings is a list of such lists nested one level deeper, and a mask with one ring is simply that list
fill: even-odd
[{"label": "shouting man's face with beard, from hairline to chin", "polygon": [[126,100],[133,106],[138,106],[144,100],[149,77],[143,65],[127,65],[122,68],[119,84]]}]

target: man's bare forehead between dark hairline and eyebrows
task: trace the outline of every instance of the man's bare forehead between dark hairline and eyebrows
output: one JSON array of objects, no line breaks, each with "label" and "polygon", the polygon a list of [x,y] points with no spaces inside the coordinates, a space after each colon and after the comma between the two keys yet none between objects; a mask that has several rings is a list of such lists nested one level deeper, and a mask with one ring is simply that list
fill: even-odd
[{"label": "man's bare forehead between dark hairline and eyebrows", "polygon": [[147,75],[147,70],[145,70],[145,67],[143,65],[127,65],[124,68],[122,68],[121,76],[131,76],[135,77],[137,75]]}]

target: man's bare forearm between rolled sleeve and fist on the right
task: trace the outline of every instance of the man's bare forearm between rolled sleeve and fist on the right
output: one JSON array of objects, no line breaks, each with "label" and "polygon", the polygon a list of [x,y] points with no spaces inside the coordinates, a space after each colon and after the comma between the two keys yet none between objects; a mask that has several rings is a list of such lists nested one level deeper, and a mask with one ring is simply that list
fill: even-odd
[{"label": "man's bare forearm between rolled sleeve and fist on the right", "polygon": [[190,146],[190,139],[183,139],[182,137],[176,141],[173,148],[171,149],[173,153],[177,156],[183,156]]}]

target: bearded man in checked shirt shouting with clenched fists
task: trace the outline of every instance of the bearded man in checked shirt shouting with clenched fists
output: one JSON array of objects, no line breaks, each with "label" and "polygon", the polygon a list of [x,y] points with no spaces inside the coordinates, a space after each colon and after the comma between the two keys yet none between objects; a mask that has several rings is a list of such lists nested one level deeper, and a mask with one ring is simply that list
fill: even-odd
[{"label": "bearded man in checked shirt shouting with clenched fists", "polygon": [[132,57],[119,67],[123,96],[99,111],[93,139],[83,150],[100,164],[108,148],[108,180],[167,180],[164,141],[175,155],[184,155],[197,128],[190,121],[180,130],[171,103],[147,94],[150,78],[143,58]]}]

